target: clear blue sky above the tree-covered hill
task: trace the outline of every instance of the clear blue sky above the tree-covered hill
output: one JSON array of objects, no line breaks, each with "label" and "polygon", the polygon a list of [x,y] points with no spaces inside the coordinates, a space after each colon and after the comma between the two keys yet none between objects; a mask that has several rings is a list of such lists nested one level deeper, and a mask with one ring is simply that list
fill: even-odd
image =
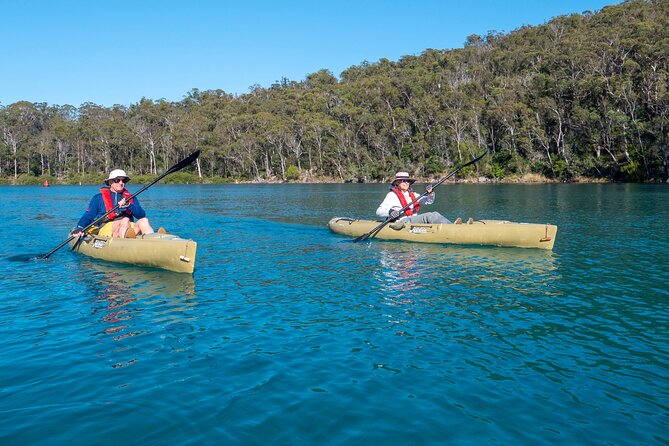
[{"label": "clear blue sky above the tree-covered hill", "polygon": [[286,77],[460,48],[612,0],[0,0],[0,105],[244,94]]}]

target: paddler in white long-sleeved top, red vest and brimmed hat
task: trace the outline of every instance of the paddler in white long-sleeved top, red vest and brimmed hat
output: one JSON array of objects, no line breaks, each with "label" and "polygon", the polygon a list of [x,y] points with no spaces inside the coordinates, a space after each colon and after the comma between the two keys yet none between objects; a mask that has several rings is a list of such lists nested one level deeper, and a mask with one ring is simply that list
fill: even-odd
[{"label": "paddler in white long-sleeved top, red vest and brimmed hat", "polygon": [[[429,185],[425,188],[426,193],[420,200],[402,211],[406,205],[416,199],[416,194],[411,189],[411,185],[415,182],[416,180],[411,178],[407,172],[397,172],[390,185],[390,192],[386,194],[386,198],[376,209],[376,215],[382,218],[390,218],[391,221],[394,221],[390,225],[393,229],[402,229],[406,222],[428,224],[453,223],[439,212],[418,213],[421,206],[434,203],[434,191],[432,191],[432,186]],[[455,223],[462,224],[462,219],[458,217]]]}]

